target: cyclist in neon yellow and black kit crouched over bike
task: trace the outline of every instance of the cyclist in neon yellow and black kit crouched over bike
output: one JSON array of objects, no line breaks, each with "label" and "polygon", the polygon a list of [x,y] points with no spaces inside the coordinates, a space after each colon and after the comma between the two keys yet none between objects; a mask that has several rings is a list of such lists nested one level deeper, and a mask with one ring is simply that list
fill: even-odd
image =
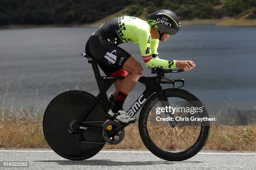
[{"label": "cyclist in neon yellow and black kit crouched over bike", "polygon": [[[123,103],[141,77],[143,68],[133,56],[118,47],[123,42],[138,43],[143,60],[148,68],[163,69],[179,67],[191,70],[195,63],[188,60],[161,60],[158,57],[159,41],[166,40],[181,28],[180,21],[172,11],[159,10],[147,16],[147,21],[136,17],[122,16],[102,24],[88,39],[85,52],[95,59],[107,76],[123,76],[115,80],[116,96],[108,114],[125,123],[136,122],[123,111]],[[127,74],[127,71],[129,74]]]}]

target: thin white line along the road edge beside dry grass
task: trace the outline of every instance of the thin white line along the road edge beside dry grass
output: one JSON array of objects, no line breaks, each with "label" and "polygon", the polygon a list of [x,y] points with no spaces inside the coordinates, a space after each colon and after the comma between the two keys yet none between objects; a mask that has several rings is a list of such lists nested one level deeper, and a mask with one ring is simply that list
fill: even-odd
[{"label": "thin white line along the road edge beside dry grass", "polygon": [[[54,152],[53,150],[0,150],[0,152]],[[100,153],[151,153],[149,151],[100,151]],[[256,153],[197,153],[209,155],[256,155]]]}]

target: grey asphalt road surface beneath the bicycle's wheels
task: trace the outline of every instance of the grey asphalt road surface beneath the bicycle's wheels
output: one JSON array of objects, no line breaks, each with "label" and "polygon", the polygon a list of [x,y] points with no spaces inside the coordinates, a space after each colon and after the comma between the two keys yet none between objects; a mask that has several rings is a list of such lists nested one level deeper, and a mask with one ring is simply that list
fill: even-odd
[{"label": "grey asphalt road surface beneath the bicycle's wheels", "polygon": [[169,162],[150,152],[104,150],[88,160],[71,161],[51,150],[0,150],[0,161],[29,161],[27,168],[0,170],[255,170],[256,153],[204,151],[185,161]]}]

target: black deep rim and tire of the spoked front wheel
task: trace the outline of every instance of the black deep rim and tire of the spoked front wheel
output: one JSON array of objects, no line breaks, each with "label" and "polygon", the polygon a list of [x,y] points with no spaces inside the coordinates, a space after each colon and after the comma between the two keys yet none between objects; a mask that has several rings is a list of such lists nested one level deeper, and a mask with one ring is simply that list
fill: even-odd
[{"label": "black deep rim and tire of the spoked front wheel", "polygon": [[[182,90],[182,89],[165,89],[164,95],[166,98],[179,97],[179,98],[182,98],[187,101],[200,102],[200,100],[197,97],[195,97],[195,95],[192,95],[190,92],[188,92],[186,90]],[[143,105],[140,115],[139,115],[139,122],[138,122],[139,123],[139,132],[141,135],[141,139],[142,139],[143,143],[145,144],[146,148],[148,148],[148,150],[151,151],[151,153],[153,153],[157,157],[164,159],[164,160],[168,160],[168,161],[182,161],[182,160],[187,160],[187,159],[193,157],[205,145],[208,135],[210,133],[210,125],[202,125],[201,126],[200,134],[198,135],[197,140],[187,150],[183,150],[181,152],[170,152],[170,151],[163,150],[163,149],[159,148],[159,146],[156,145],[156,142],[154,142],[151,139],[151,137],[148,133],[149,130],[147,127],[147,124],[149,122],[148,121],[149,112],[150,112],[151,108],[153,107],[154,103],[158,102],[158,101],[159,101],[159,97],[155,93],[150,98],[148,98],[146,103]],[[200,103],[202,104],[202,102],[200,102]],[[204,115],[200,115],[200,116],[207,116],[207,111],[205,110],[205,108],[204,108],[203,114]],[[172,127],[172,126],[170,126],[170,127]],[[170,132],[169,132],[169,134],[170,134]],[[168,136],[166,138],[168,138]],[[178,136],[177,136],[177,140],[178,140]],[[166,141],[166,139],[165,139],[165,141]],[[179,143],[179,141],[178,141],[178,143]],[[170,148],[172,148],[172,142],[171,142]]]}]

